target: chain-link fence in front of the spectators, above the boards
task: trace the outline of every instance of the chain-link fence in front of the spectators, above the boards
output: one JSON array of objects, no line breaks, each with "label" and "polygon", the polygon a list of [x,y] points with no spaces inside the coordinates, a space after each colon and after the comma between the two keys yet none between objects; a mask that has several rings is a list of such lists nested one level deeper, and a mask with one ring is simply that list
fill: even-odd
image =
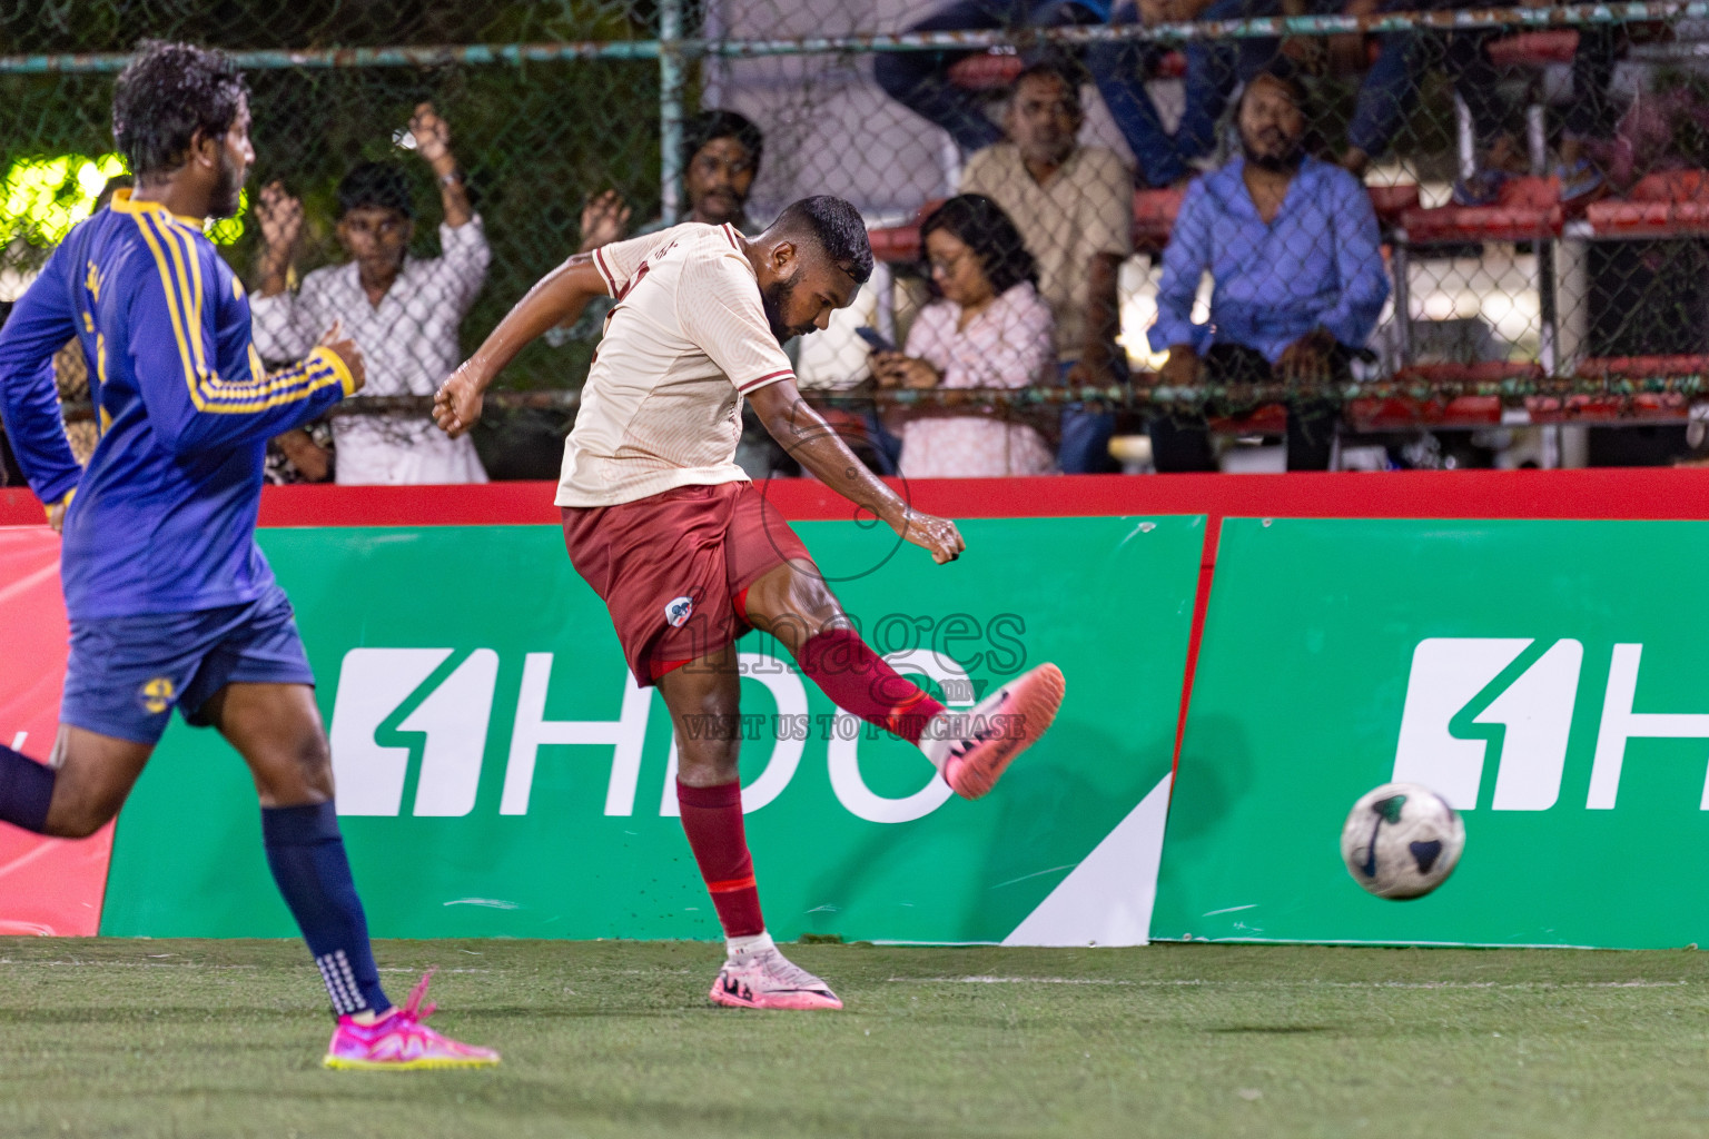
[{"label": "chain-link fence in front of the spectators, above the boards", "polygon": [[[567,254],[667,219],[757,231],[812,193],[866,215],[882,266],[798,372],[882,464],[1087,470],[1114,434],[1130,466],[1184,470],[1287,423],[1307,466],[1663,461],[1699,437],[1704,3],[0,3],[0,299],[123,178],[111,85],[140,38],[238,55],[256,166],[210,236],[255,299],[361,285],[373,398],[350,410],[400,437],[439,371],[424,345],[461,359]],[[467,193],[467,289],[350,268],[340,186],[366,164],[405,188],[415,263],[463,256],[441,222]],[[933,217],[964,191],[1001,222]],[[506,372],[489,475],[555,473],[596,340],[554,330]],[[896,350],[877,367],[873,342]]]}]

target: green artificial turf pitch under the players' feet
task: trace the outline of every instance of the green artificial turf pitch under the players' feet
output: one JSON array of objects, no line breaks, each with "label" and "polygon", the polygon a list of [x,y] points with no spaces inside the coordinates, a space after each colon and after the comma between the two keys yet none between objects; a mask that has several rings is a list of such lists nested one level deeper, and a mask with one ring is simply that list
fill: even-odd
[{"label": "green artificial turf pitch under the players' feet", "polygon": [[0,939],[0,1134],[1709,1134],[1695,951],[788,953],[848,1009],[716,1009],[709,944],[379,943],[504,1066],[369,1074],[294,943]]}]

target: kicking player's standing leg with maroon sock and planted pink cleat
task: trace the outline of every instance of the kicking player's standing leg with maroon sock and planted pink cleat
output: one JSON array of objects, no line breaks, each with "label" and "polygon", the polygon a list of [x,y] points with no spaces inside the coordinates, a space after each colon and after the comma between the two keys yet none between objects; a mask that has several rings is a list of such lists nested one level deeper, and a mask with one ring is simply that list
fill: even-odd
[{"label": "kicking player's standing leg with maroon sock and planted pink cleat", "polygon": [[841,1009],[825,982],[778,951],[761,917],[737,774],[742,678],[735,645],[665,673],[658,690],[677,734],[682,830],[725,927],[726,960],[713,982],[713,1001],[750,1009]]}]

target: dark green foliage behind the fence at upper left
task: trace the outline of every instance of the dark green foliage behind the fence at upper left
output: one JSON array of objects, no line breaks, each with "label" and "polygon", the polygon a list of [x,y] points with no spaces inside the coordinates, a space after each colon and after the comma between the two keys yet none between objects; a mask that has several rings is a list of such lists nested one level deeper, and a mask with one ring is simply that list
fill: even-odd
[{"label": "dark green foliage behind the fence at upper left", "polygon": [[[0,0],[0,53],[128,51],[149,36],[261,50],[634,39],[655,32],[656,5],[627,0]],[[304,200],[299,272],[342,260],[333,237],[335,188],[350,166],[373,159],[412,171],[419,219],[414,253],[438,254],[438,183],[426,162],[398,149],[395,138],[417,102],[432,101],[444,114],[492,244],[487,285],[463,321],[465,350],[535,280],[576,251],[581,205],[590,195],[617,188],[637,220],[658,213],[656,63],[291,68],[251,70],[248,79],[256,150],[250,193],[277,178]],[[19,164],[36,171],[67,155],[111,152],[111,73],[0,75],[0,174]],[[32,195],[39,198],[39,188],[32,186]],[[75,210],[82,200],[75,179],[63,184],[60,196],[60,207]],[[58,217],[53,202],[36,205]],[[238,229],[224,229],[226,254],[253,280],[260,227],[244,220],[241,236]],[[0,219],[0,241],[14,239],[0,251],[0,272],[31,273],[63,225],[53,219]],[[504,384],[576,388],[586,376],[588,355],[586,345],[535,345],[506,372]]]}]

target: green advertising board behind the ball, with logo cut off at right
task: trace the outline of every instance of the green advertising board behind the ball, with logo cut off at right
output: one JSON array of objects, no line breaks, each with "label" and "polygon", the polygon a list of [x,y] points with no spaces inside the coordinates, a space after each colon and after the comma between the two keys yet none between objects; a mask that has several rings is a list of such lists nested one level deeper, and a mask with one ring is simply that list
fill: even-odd
[{"label": "green advertising board behind the ball, with logo cut off at right", "polygon": [[[1224,524],[1152,936],[1709,943],[1704,523]],[[1465,811],[1434,895],[1342,866],[1389,779]]]}]

